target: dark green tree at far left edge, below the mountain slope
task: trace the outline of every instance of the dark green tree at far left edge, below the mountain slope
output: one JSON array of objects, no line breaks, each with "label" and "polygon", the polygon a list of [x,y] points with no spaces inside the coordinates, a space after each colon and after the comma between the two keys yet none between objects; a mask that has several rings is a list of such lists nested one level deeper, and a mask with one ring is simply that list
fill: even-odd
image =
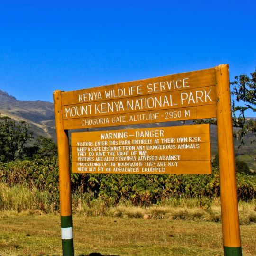
[{"label": "dark green tree at far left edge, below the mountain slope", "polygon": [[33,139],[29,124],[0,117],[0,162],[14,161],[20,157],[25,144]]}]

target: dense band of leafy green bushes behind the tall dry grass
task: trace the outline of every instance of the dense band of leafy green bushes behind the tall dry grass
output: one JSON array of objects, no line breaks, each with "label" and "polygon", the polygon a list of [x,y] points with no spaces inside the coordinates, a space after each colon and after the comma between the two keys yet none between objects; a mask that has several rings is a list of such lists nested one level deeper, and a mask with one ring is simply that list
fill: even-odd
[{"label": "dense band of leafy green bushes behind the tall dry grass", "polygon": [[[47,190],[59,204],[58,163],[56,158],[13,161],[0,164],[0,181],[9,186]],[[72,174],[72,192],[88,200],[110,199],[114,204],[130,201],[133,205],[157,204],[169,198],[216,198],[219,172],[212,175]],[[237,174],[239,200],[256,197],[256,176]]]}]

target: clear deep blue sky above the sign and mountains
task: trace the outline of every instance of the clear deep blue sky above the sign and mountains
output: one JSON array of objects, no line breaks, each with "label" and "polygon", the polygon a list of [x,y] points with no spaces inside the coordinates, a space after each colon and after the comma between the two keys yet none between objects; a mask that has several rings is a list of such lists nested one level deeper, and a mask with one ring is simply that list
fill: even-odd
[{"label": "clear deep blue sky above the sign and mountains", "polygon": [[52,102],[219,64],[232,81],[256,68],[255,13],[256,0],[0,0],[0,89]]}]

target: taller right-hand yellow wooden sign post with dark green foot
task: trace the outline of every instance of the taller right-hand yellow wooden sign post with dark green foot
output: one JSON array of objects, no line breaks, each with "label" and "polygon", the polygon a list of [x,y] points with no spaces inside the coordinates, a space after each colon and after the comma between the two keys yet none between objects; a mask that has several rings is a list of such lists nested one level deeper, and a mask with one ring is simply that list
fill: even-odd
[{"label": "taller right-hand yellow wooden sign post with dark green foot", "polygon": [[217,80],[217,133],[224,255],[241,256],[229,65],[219,65],[215,68],[215,71]]}]

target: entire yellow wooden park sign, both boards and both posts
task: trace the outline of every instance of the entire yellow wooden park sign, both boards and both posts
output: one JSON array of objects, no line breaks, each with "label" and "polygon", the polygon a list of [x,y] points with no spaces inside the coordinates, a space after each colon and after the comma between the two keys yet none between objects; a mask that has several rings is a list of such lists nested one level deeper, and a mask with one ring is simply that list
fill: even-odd
[{"label": "entire yellow wooden park sign, both boards and both posts", "polygon": [[[217,119],[223,245],[241,256],[229,66],[82,89],[55,91],[61,234],[74,255],[68,130]],[[72,133],[79,173],[210,174],[209,126]]]}]

